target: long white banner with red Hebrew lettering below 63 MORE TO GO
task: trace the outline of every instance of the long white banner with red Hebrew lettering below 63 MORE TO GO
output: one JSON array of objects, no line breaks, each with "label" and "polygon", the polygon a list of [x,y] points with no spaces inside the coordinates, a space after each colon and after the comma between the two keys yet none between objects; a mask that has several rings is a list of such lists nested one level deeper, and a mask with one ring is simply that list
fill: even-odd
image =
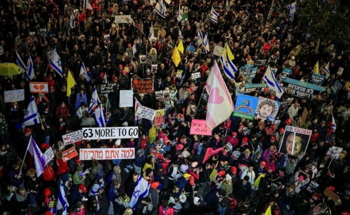
[{"label": "long white banner with red Hebrew lettering below 63 MORE TO GO", "polygon": [[79,160],[116,160],[116,159],[134,159],[134,148],[115,148],[115,149],[80,149]]}]

